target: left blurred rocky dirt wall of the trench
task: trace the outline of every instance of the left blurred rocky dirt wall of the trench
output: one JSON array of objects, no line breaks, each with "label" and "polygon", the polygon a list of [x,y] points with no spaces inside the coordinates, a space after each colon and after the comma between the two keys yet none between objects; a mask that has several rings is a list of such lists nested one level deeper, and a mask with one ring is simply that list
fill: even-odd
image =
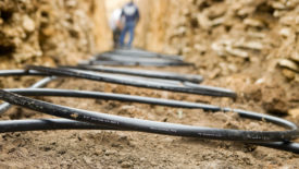
[{"label": "left blurred rocky dirt wall of the trench", "polygon": [[75,64],[110,39],[101,0],[1,0],[0,69]]}]

